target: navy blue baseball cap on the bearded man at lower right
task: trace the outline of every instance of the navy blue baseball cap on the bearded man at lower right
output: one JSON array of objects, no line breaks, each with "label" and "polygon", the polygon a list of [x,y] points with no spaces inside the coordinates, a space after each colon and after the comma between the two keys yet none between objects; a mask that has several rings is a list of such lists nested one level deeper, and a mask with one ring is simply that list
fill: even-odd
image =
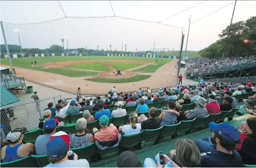
[{"label": "navy blue baseball cap on the bearded man at lower right", "polygon": [[238,143],[240,139],[240,134],[231,124],[222,122],[220,124],[216,124],[215,122],[209,123],[209,128],[212,131],[215,131],[228,143]]}]

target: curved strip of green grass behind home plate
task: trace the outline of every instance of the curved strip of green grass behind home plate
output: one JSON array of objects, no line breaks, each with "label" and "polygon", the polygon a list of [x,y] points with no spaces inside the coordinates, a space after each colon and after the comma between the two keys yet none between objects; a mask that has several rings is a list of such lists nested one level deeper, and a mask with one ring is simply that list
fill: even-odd
[{"label": "curved strip of green grass behind home plate", "polygon": [[147,78],[150,78],[151,75],[134,75],[133,77],[129,78],[90,78],[86,79],[87,81],[93,81],[93,82],[101,82],[101,83],[129,83],[129,82],[137,82],[142,81]]}]

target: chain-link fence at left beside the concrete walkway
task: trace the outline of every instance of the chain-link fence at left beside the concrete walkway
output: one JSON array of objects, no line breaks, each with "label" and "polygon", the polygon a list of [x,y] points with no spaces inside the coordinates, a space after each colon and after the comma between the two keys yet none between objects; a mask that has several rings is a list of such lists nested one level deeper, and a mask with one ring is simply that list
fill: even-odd
[{"label": "chain-link fence at left beside the concrete walkway", "polygon": [[48,108],[48,103],[53,102],[53,107],[55,107],[60,99],[59,95],[29,103],[1,107],[0,123],[4,125],[2,133],[6,136],[15,128],[25,127],[28,130],[37,128],[39,118],[43,118],[43,112],[45,108]]}]

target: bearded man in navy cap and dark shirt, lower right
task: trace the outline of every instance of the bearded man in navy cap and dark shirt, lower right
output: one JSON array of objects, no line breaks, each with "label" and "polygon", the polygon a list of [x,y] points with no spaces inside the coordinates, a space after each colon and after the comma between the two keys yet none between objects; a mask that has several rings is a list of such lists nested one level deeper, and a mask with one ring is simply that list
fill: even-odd
[{"label": "bearded man in navy cap and dark shirt, lower right", "polygon": [[200,167],[243,167],[243,161],[236,149],[240,134],[228,123],[209,123],[212,137],[195,140],[201,153]]}]

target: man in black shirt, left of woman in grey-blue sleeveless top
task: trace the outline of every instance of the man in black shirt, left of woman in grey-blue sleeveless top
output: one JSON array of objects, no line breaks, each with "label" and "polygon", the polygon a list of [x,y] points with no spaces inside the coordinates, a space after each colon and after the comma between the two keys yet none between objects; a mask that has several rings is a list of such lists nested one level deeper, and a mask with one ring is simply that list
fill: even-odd
[{"label": "man in black shirt, left of woman in grey-blue sleeveless top", "polygon": [[149,112],[149,118],[147,118],[144,114],[140,115],[140,119],[143,121],[141,122],[141,129],[142,130],[153,130],[160,128],[161,119],[156,118],[157,110],[155,107],[151,107]]}]

